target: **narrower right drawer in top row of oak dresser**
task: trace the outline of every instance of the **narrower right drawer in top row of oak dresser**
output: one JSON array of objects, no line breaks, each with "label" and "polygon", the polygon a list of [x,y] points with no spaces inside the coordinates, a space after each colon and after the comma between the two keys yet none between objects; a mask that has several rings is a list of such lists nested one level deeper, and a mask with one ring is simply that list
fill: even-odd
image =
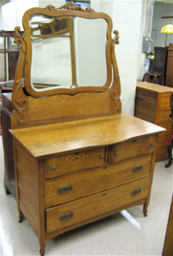
[{"label": "narrower right drawer in top row of oak dresser", "polygon": [[113,163],[130,157],[153,153],[156,148],[155,143],[155,136],[151,136],[111,145],[109,146],[108,162]]}]

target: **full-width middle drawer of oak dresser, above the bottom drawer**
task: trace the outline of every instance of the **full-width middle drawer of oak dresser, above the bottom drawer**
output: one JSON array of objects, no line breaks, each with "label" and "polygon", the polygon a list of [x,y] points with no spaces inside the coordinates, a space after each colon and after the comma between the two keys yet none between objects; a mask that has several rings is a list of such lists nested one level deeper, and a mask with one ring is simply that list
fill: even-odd
[{"label": "full-width middle drawer of oak dresser, above the bottom drawer", "polygon": [[45,180],[45,206],[64,204],[150,175],[151,158],[149,154]]}]

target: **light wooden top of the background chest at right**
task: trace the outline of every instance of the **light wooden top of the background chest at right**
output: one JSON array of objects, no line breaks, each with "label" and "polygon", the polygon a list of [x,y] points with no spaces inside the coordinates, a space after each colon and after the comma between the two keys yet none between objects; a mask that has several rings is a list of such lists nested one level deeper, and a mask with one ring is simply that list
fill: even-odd
[{"label": "light wooden top of the background chest at right", "polygon": [[137,82],[136,86],[142,89],[156,91],[158,92],[158,94],[162,94],[165,92],[173,92],[173,88],[167,86],[160,86],[159,84],[155,83]]}]

